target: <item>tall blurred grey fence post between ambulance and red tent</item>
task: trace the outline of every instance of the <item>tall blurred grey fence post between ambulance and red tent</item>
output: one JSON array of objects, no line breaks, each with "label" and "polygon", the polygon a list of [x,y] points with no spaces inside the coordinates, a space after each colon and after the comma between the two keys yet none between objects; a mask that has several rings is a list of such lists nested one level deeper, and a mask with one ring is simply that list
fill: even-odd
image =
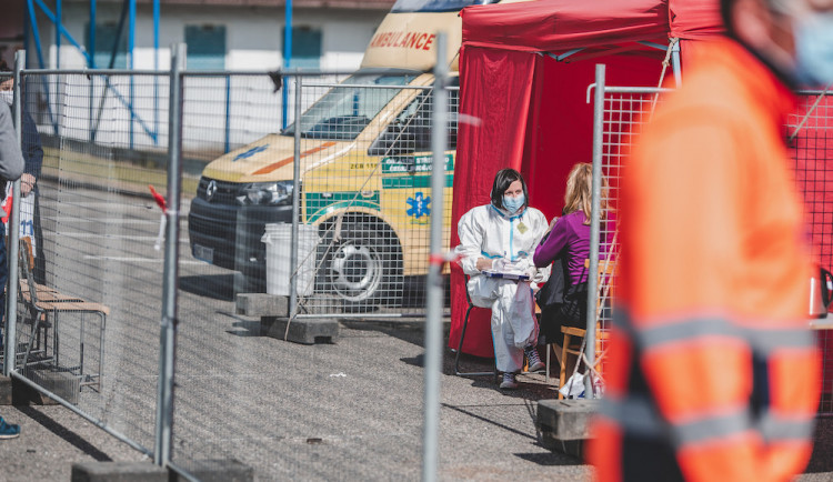
[{"label": "tall blurred grey fence post between ambulance and red tent", "polygon": [[425,304],[425,416],[422,428],[422,480],[436,480],[438,439],[440,429],[440,372],[442,371],[442,261],[443,191],[445,189],[445,149],[448,143],[449,66],[445,58],[445,32],[436,33],[436,66],[434,67],[433,118],[431,123],[431,257],[428,270]]}]

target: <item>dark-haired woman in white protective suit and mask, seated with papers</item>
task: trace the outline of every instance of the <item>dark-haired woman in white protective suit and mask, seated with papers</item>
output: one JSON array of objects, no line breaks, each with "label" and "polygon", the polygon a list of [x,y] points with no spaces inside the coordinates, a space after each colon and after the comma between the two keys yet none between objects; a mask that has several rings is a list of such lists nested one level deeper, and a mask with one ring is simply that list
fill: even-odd
[{"label": "dark-haired woman in white protective suit and mask, seated with papers", "polygon": [[[473,208],[458,223],[463,272],[470,277],[466,289],[475,307],[492,309],[492,342],[498,370],[503,372],[501,389],[515,389],[515,373],[544,368],[535,350],[538,320],[532,283],[543,283],[550,268],[536,269],[532,254],[548,230],[544,214],[528,205],[526,182],[514,169],[494,177],[492,202]],[[484,271],[524,273],[528,280],[489,277]]]}]

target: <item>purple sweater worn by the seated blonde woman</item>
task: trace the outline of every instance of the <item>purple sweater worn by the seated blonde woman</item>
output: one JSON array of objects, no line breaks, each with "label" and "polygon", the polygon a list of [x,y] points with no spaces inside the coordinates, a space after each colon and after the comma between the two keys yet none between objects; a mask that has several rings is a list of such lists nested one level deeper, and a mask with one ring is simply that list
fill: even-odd
[{"label": "purple sweater worn by the seated blonde woman", "polygon": [[[532,258],[536,267],[543,268],[566,249],[568,284],[588,281],[584,260],[590,258],[590,227],[584,225],[584,219],[583,211],[575,211],[560,218],[549,238],[535,249],[535,255]],[[612,238],[612,233],[609,233],[609,238]],[[600,258],[603,258],[602,253]]]}]

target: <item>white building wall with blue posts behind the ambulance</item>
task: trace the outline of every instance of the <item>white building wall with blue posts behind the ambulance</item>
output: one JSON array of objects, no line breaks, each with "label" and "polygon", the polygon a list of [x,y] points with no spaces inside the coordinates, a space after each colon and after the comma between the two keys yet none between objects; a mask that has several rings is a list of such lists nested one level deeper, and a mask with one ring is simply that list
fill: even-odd
[{"label": "white building wall with blue posts behind the ambulance", "polygon": [[[120,4],[99,3],[97,23],[118,23]],[[153,17],[150,6],[138,6],[134,32],[133,68],[137,70],[168,70],[170,46],[184,41],[185,26],[225,26],[225,69],[238,71],[270,71],[281,68],[284,16],[283,9],[268,8],[208,8],[167,6],[159,23],[159,49],[153,48]],[[348,11],[335,9],[297,9],[293,26],[310,27],[322,32],[320,68],[329,71],[352,71],[361,63],[364,49],[387,12]],[[87,44],[86,26],[89,22],[87,6],[64,4],[64,28],[82,46]],[[49,67],[58,62],[54,46],[54,27],[42,23],[41,42],[48,48]],[[82,69],[83,54],[62,39],[60,67]],[[98,66],[99,68],[107,66]],[[89,81],[83,77],[67,78],[66,82],[50,82],[51,101],[61,99],[61,134],[87,140],[90,137]],[[137,77],[131,87],[127,77],[113,78],[110,89],[101,78],[93,80],[92,111],[98,118],[96,141],[137,149],[163,149],[168,143],[167,79],[153,80]],[[332,80],[333,78],[330,78]],[[161,90],[160,90],[161,86]],[[132,91],[132,94],[131,94]],[[101,96],[107,93],[101,101]],[[312,99],[304,98],[309,104]],[[137,119],[130,120],[132,103]],[[288,116],[294,112],[290,88]],[[106,109],[98,109],[101,104]],[[305,106],[304,106],[305,107]],[[155,111],[154,111],[155,110]],[[224,79],[187,78],[184,94],[183,148],[207,159],[280,129],[281,93],[273,92],[271,81],[261,78],[233,78],[228,86]]]}]

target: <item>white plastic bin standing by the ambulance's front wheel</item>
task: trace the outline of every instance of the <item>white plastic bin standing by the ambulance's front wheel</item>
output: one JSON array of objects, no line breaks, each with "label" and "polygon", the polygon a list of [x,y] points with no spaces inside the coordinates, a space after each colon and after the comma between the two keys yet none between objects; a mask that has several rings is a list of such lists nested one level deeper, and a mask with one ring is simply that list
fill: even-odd
[{"label": "white plastic bin standing by the ambulance's front wheel", "polygon": [[[261,242],[267,244],[267,293],[289,295],[292,267],[292,223],[267,224]],[[298,224],[298,294],[309,297],[314,289],[318,228]]]}]

